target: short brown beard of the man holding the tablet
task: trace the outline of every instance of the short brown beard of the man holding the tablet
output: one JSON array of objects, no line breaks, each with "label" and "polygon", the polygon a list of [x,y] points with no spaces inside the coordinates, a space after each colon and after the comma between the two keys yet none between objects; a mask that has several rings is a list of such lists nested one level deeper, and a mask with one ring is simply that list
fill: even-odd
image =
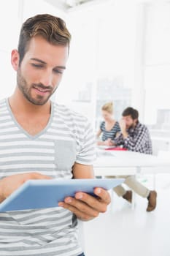
[{"label": "short brown beard of the man holding the tablet", "polygon": [[[50,99],[51,95],[54,94],[55,90],[57,89],[57,86],[55,89],[53,89],[53,86],[44,86],[42,83],[32,83],[31,85],[28,85],[26,82],[26,79],[23,78],[23,75],[20,72],[20,69],[18,69],[17,73],[17,84],[18,88],[22,92],[23,96],[32,104],[34,105],[45,105],[45,103]],[[36,97],[31,96],[31,89],[47,89],[49,90],[48,96],[44,97],[42,95],[36,95]]]}]

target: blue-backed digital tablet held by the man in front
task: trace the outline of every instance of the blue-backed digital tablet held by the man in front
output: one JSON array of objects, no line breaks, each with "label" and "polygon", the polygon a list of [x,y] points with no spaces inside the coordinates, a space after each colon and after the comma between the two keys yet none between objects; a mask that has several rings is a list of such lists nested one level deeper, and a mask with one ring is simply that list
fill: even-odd
[{"label": "blue-backed digital tablet held by the man in front", "polygon": [[0,211],[57,207],[58,202],[74,197],[76,192],[94,195],[96,187],[109,190],[123,181],[124,178],[29,180],[0,203]]}]

